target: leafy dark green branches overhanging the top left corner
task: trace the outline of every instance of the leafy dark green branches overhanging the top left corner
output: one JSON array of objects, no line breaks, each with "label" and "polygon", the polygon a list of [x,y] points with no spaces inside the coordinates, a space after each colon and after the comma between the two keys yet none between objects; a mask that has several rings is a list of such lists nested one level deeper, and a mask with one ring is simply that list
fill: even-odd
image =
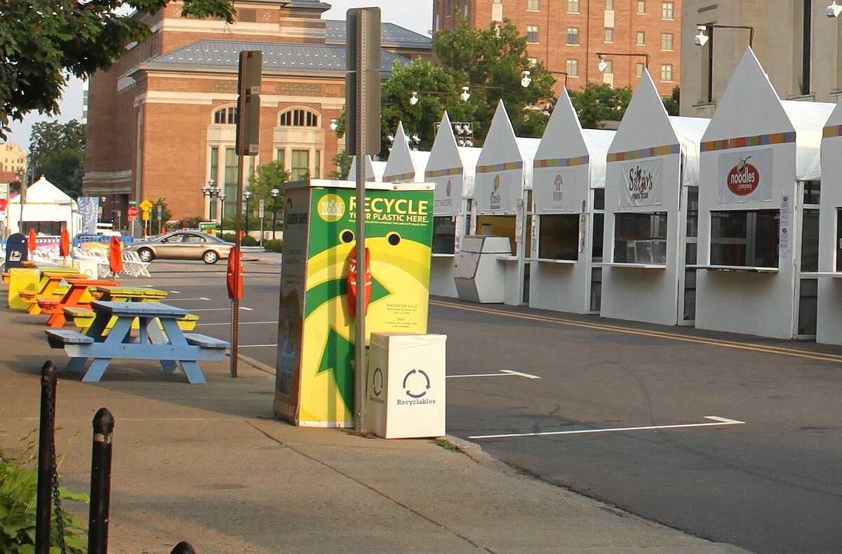
[{"label": "leafy dark green branches overhanging the top left corner", "polygon": [[[37,110],[56,115],[71,75],[107,70],[131,42],[152,35],[141,17],[170,0],[3,0],[0,2],[0,139],[10,120]],[[182,16],[233,22],[232,0],[182,0]],[[118,8],[120,10],[118,11]]]}]

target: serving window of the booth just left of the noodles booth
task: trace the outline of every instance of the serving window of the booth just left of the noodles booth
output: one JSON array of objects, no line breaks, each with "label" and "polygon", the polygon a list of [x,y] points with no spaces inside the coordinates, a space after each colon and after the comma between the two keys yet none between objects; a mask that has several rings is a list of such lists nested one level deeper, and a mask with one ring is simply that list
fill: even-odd
[{"label": "serving window of the booth just left of the noodles booth", "polygon": [[614,261],[620,264],[666,264],[667,212],[616,214]]}]

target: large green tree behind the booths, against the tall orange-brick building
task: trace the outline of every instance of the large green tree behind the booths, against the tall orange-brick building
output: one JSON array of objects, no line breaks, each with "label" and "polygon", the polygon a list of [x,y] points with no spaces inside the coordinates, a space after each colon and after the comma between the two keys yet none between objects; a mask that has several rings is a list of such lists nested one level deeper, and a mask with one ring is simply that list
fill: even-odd
[{"label": "large green tree behind the booths, against the tall orange-brick building", "polygon": [[[475,121],[491,121],[502,98],[518,136],[541,136],[549,119],[548,106],[555,104],[556,79],[541,63],[531,64],[526,37],[509,19],[487,29],[468,29],[467,20],[460,17],[455,29],[434,35],[433,50],[457,85],[471,87]],[[530,72],[528,87],[520,84],[525,70]],[[480,127],[475,133],[482,139],[488,129]]]}]

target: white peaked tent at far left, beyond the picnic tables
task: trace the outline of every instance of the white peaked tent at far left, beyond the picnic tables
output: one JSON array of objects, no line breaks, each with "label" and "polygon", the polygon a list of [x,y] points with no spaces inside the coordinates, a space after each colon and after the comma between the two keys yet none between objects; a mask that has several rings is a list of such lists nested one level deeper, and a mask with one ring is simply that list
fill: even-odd
[{"label": "white peaked tent at far left, beyond the picnic tables", "polygon": [[21,229],[20,194],[8,200],[6,228],[9,234],[35,229],[35,232],[45,235],[58,235],[62,229],[67,229],[73,237],[82,226],[76,201],[43,175],[26,188],[23,212],[24,228]]}]

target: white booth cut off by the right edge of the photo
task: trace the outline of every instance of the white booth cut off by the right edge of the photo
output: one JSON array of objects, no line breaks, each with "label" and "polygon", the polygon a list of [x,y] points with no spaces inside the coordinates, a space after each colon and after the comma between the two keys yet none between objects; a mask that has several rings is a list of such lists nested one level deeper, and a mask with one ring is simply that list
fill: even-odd
[{"label": "white booth cut off by the right edge of the photo", "polygon": [[816,342],[842,344],[842,104],[824,125],[821,162]]}]

